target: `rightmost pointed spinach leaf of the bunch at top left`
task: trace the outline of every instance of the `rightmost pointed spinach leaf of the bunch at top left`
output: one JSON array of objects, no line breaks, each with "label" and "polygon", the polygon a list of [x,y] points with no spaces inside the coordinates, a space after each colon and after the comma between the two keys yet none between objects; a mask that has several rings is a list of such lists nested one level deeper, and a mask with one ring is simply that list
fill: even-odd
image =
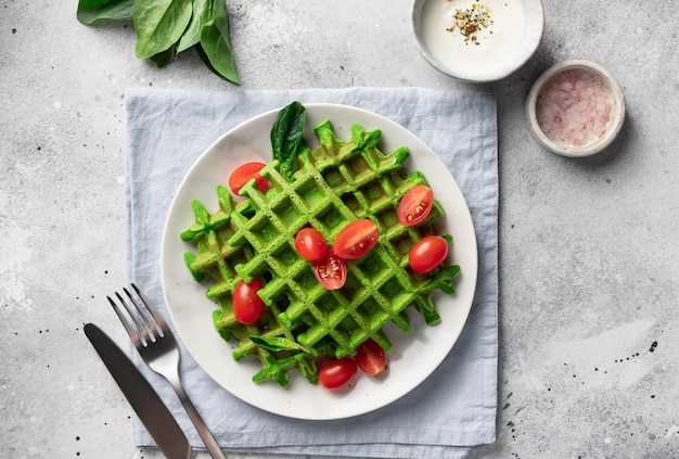
[{"label": "rightmost pointed spinach leaf of the bunch at top left", "polygon": [[[223,0],[212,0],[212,20],[201,29],[201,48],[208,68],[220,77],[240,85],[229,41],[229,15]],[[205,59],[203,56],[203,61]],[[206,62],[207,64],[207,62]]]}]

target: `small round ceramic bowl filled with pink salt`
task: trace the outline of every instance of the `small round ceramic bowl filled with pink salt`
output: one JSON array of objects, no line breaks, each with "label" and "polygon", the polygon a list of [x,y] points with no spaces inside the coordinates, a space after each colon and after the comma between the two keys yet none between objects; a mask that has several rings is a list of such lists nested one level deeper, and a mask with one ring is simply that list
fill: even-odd
[{"label": "small round ceramic bowl filled with pink salt", "polygon": [[625,122],[625,98],[617,80],[601,65],[561,62],[535,81],[526,101],[533,136],[547,150],[582,157],[605,150]]}]

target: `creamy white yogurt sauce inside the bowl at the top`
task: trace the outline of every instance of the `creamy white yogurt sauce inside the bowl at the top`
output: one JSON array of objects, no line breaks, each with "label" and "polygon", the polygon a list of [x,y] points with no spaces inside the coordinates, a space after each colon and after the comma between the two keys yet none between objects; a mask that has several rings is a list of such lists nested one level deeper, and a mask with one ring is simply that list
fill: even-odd
[{"label": "creamy white yogurt sauce inside the bowl at the top", "polygon": [[[456,11],[473,11],[474,3],[488,7],[492,22],[466,39],[456,26]],[[477,7],[478,8],[478,7]],[[422,7],[422,37],[430,52],[461,75],[483,76],[502,68],[520,49],[525,29],[521,0],[428,0]]]}]

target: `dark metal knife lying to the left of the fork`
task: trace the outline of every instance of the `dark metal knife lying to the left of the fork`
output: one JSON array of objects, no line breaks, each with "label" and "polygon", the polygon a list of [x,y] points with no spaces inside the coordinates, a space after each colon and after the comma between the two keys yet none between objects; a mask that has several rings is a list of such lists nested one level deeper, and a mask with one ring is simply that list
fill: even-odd
[{"label": "dark metal knife lying to the left of the fork", "polygon": [[93,323],[84,328],[132,409],[168,459],[188,459],[191,445],[158,394],[125,353]]}]

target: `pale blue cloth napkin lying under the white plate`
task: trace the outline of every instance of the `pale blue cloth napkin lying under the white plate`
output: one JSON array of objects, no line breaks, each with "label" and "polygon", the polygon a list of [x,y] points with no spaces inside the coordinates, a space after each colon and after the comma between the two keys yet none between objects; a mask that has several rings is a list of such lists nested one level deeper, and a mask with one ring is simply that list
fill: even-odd
[{"label": "pale blue cloth napkin lying under the white plate", "polygon": [[[496,437],[498,403],[498,164],[492,95],[422,88],[267,91],[131,89],[127,103],[129,276],[164,313],[162,230],[175,190],[216,139],[254,115],[297,100],[362,107],[419,136],[447,165],[470,206],[478,241],[476,295],[440,367],[405,397],[347,420],[304,421],[254,408],[220,388],[182,349],[187,392],[225,450],[445,459]],[[267,132],[268,135],[268,132]],[[140,362],[139,358],[137,362]],[[169,384],[140,364],[192,445],[202,442]],[[134,419],[134,441],[153,439]]]}]

